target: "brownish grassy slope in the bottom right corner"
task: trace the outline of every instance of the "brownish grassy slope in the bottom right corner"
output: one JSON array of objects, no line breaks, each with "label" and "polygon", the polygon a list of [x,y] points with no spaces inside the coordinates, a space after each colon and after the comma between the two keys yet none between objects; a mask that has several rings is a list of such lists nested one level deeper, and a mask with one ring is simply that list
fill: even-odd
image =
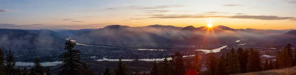
[{"label": "brownish grassy slope in the bottom right corner", "polygon": [[253,72],[253,73],[246,73],[246,74],[237,74],[237,75],[296,75],[296,67]]}]

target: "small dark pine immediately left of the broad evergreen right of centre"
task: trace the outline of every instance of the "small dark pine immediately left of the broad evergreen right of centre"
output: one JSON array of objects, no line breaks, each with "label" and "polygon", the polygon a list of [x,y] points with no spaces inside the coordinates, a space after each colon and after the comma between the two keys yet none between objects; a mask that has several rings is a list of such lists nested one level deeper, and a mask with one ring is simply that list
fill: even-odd
[{"label": "small dark pine immediately left of the broad evergreen right of centre", "polygon": [[169,75],[170,74],[170,65],[167,57],[163,59],[162,62],[160,62],[160,68],[159,68],[159,74],[160,75]]}]

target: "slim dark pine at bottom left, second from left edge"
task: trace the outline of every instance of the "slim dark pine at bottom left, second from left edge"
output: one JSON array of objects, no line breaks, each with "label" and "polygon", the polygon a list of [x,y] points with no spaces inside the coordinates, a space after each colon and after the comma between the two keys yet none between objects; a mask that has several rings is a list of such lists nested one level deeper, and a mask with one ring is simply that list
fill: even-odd
[{"label": "slim dark pine at bottom left, second from left edge", "polygon": [[15,65],[14,56],[11,53],[11,48],[9,48],[9,54],[6,55],[6,67],[5,67],[5,74],[6,75],[14,75],[15,69],[13,68]]}]

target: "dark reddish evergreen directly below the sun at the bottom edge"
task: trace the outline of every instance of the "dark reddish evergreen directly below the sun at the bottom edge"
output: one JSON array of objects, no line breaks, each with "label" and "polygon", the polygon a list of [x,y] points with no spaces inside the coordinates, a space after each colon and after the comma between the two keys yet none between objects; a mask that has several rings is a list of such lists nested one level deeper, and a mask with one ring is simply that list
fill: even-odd
[{"label": "dark reddish evergreen directly below the sun at the bottom edge", "polygon": [[216,75],[217,68],[217,58],[213,51],[211,50],[207,57],[207,69],[210,72],[210,75]]}]

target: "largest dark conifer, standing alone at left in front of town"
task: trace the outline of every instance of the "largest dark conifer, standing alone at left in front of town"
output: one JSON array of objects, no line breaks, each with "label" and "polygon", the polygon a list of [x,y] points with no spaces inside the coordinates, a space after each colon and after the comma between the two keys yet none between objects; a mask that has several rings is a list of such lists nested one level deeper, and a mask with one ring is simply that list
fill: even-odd
[{"label": "largest dark conifer, standing alone at left in front of town", "polygon": [[80,61],[79,50],[74,50],[75,43],[71,39],[67,40],[65,43],[65,48],[67,52],[60,56],[60,59],[63,61],[61,66],[60,75],[83,75],[85,73],[85,65]]}]

